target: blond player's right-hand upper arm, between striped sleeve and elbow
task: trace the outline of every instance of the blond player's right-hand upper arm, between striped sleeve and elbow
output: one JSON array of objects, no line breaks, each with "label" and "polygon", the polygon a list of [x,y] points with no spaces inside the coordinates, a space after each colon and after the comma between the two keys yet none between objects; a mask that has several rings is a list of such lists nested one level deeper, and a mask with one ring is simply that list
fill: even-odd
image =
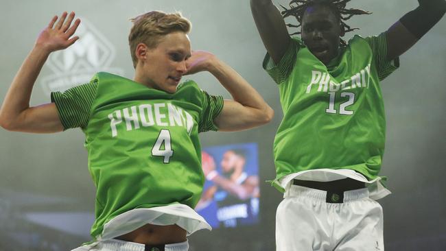
[{"label": "blond player's right-hand upper arm, between striped sleeve and elbow", "polygon": [[[268,106],[266,109],[271,108]],[[266,113],[268,112],[243,106],[237,101],[224,100],[222,111],[215,117],[214,123],[224,132],[246,130],[270,121],[271,118],[266,117]],[[272,114],[272,110],[269,113]]]}]

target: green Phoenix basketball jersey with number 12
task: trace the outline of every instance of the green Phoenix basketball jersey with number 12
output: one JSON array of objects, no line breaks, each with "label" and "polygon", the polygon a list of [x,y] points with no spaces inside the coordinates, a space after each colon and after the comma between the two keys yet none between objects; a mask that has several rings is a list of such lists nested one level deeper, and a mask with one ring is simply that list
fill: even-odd
[{"label": "green Phoenix basketball jersey with number 12", "polygon": [[377,178],[386,120],[379,80],[397,69],[386,60],[386,34],[353,37],[327,67],[293,38],[279,64],[263,67],[279,84],[283,120],[274,139],[277,180],[309,169],[353,169]]}]

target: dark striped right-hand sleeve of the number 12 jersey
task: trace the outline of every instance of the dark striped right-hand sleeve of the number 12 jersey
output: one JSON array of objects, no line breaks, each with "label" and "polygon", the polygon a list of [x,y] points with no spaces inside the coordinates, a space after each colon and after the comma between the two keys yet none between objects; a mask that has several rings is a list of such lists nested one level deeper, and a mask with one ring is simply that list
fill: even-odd
[{"label": "dark striped right-hand sleeve of the number 12 jersey", "polygon": [[375,66],[377,67],[379,80],[384,80],[388,75],[399,68],[399,58],[387,59],[387,34],[383,32],[379,36],[365,38],[373,52]]}]

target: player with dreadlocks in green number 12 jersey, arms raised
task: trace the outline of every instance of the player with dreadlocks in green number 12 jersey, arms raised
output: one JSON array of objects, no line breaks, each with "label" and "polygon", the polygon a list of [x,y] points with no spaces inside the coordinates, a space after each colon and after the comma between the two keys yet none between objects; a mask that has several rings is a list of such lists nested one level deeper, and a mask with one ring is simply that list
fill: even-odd
[{"label": "player with dreadlocks in green number 12 jersey, arms raised", "polygon": [[[354,28],[350,0],[250,0],[268,54],[263,68],[277,82],[283,120],[274,139],[279,251],[384,250],[382,207],[390,193],[378,176],[386,121],[379,81],[399,56],[446,11],[445,0],[419,0],[379,36],[341,37]],[[301,38],[283,17],[295,16]]]}]

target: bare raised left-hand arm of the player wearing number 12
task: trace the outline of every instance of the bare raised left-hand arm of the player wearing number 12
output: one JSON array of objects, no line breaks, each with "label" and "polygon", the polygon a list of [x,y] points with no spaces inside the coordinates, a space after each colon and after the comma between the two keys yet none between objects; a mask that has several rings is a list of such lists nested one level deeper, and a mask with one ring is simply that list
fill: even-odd
[{"label": "bare raised left-hand arm of the player wearing number 12", "polygon": [[251,11],[263,45],[277,64],[290,43],[285,21],[271,0],[250,0]]}]

